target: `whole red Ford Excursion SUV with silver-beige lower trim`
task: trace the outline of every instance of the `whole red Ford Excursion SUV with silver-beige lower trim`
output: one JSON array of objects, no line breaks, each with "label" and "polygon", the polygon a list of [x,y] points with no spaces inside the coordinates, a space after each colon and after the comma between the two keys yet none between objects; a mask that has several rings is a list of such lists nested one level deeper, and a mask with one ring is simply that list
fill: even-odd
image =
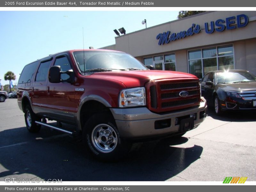
[{"label": "whole red Ford Excursion SUV with silver-beige lower trim", "polygon": [[[180,137],[206,116],[196,76],[149,70],[109,50],[72,50],[32,62],[20,75],[17,95],[29,132],[45,125],[82,133],[103,160],[127,153],[132,140]],[[46,118],[77,128],[70,132]]]}]

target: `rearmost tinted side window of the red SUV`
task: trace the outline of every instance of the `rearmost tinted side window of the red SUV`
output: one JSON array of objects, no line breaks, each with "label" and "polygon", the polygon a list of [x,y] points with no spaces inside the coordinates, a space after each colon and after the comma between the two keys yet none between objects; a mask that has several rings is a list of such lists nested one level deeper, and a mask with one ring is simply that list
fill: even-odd
[{"label": "rearmost tinted side window of the red SUV", "polygon": [[21,72],[18,84],[31,83],[31,79],[36,71],[37,65],[38,61],[26,65]]}]

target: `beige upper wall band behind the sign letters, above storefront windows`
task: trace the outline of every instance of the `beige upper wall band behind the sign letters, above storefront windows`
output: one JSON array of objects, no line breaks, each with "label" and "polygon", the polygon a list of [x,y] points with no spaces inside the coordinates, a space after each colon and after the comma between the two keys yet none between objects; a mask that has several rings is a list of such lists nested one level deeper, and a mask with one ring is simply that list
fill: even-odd
[{"label": "beige upper wall band behind the sign letters, above storefront windows", "polygon": [[[227,17],[246,14],[249,17],[249,23],[244,28],[236,28],[233,30],[225,30],[223,32],[214,32],[207,34],[204,31],[204,23],[218,19],[225,20]],[[158,45],[156,36],[159,33],[171,31],[178,33],[187,30],[192,24],[199,24],[202,31],[199,34],[179,39],[169,44]],[[189,49],[193,47],[201,47],[209,44],[220,44],[223,42],[234,42],[241,39],[255,38],[256,31],[256,12],[255,11],[218,11],[206,14],[198,14],[198,16],[175,20],[156,27],[144,29],[138,32],[130,33],[120,37],[116,37],[116,50],[124,51],[133,56],[142,56],[156,54],[161,52],[169,52],[181,49]]]}]

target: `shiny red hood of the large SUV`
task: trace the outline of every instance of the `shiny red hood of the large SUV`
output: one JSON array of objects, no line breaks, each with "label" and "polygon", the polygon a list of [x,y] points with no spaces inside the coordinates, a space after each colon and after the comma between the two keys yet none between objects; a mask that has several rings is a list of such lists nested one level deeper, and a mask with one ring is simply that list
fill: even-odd
[{"label": "shiny red hood of the large SUV", "polygon": [[122,82],[127,88],[142,87],[148,81],[159,79],[198,79],[196,76],[183,72],[176,71],[161,71],[161,70],[131,70],[131,71],[111,71],[94,73],[93,76],[99,78],[107,78]]}]

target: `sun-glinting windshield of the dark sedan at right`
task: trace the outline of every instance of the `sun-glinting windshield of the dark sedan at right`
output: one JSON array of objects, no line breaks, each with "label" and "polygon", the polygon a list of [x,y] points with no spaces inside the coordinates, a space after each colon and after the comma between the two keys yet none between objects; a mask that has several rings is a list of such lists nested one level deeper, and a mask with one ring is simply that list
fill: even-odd
[{"label": "sun-glinting windshield of the dark sedan at right", "polygon": [[256,77],[249,72],[220,72],[216,73],[217,83],[239,83],[256,81]]}]

